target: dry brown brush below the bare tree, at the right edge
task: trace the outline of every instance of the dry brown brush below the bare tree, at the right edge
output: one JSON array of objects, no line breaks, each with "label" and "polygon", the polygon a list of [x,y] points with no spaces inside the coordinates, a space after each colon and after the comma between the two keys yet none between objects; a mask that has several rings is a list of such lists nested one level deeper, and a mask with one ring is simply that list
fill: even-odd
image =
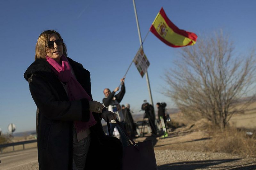
[{"label": "dry brown brush below the bare tree, at the right edge", "polygon": [[245,130],[228,127],[221,131],[212,128],[212,140],[205,145],[206,151],[226,152],[256,156],[256,134],[248,136]]}]

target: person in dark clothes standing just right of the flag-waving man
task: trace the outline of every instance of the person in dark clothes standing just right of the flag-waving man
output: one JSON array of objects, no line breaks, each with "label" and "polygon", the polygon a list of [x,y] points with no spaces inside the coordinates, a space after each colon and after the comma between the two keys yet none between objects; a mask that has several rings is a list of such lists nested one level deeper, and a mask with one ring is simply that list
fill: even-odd
[{"label": "person in dark clothes standing just right of the flag-waving man", "polygon": [[123,110],[124,113],[124,125],[126,131],[130,134],[132,138],[136,137],[136,126],[134,124],[132,114],[130,111],[130,104],[125,104],[125,109]]}]

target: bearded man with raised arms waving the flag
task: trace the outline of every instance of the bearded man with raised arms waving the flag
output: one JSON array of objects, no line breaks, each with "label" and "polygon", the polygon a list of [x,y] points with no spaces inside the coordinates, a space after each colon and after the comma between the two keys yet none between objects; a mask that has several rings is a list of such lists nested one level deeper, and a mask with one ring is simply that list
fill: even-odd
[{"label": "bearded man with raised arms waving the flag", "polygon": [[[118,94],[116,94],[116,92],[119,90],[119,87],[116,87],[116,89],[114,89],[114,91],[112,91],[112,92],[108,88],[104,89],[103,93],[104,93],[105,97],[102,99],[102,101],[103,101],[104,106],[107,107],[108,111],[116,113],[117,119],[119,120],[121,125],[124,126],[124,114],[123,114],[121,106],[120,106],[120,102],[122,101],[124,94],[125,94],[124,78],[121,79],[121,85],[122,85],[121,90]],[[120,138],[123,143],[123,146],[127,146],[128,141],[125,137],[125,134],[123,133],[122,129],[119,126],[117,126],[116,121],[112,120],[109,123],[109,126],[110,126],[111,134],[113,134],[115,127],[117,128],[117,130],[120,134]]]}]

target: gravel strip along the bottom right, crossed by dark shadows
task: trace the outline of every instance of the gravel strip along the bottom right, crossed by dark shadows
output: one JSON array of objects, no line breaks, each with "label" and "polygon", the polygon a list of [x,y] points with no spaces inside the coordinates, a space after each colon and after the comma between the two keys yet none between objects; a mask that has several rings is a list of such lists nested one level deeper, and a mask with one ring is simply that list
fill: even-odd
[{"label": "gravel strip along the bottom right, crossed by dark shadows", "polygon": [[256,169],[256,158],[226,153],[155,150],[158,170]]}]

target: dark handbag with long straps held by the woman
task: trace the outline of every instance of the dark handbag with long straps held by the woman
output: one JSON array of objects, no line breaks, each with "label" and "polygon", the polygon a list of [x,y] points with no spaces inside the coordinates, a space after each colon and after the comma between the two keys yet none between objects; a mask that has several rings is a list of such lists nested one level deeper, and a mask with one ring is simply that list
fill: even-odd
[{"label": "dark handbag with long straps held by the woman", "polygon": [[[116,123],[123,130],[129,143],[124,147],[123,170],[157,170],[156,157],[152,140],[135,143],[132,137],[126,132],[124,127],[116,119]],[[109,122],[108,134],[110,133]],[[131,143],[131,142],[132,143]]]}]

